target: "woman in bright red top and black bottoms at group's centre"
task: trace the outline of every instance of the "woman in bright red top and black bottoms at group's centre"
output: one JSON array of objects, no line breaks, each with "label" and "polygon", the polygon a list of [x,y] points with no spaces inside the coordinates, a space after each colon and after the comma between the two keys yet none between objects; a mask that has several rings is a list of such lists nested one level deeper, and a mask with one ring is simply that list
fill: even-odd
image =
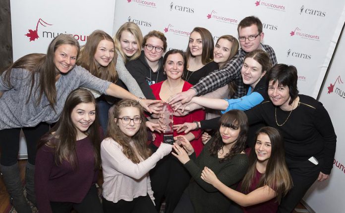
[{"label": "woman in bright red top and black bottoms at group's centre", "polygon": [[[151,85],[151,89],[157,100],[167,101],[172,95],[186,91],[192,85],[181,78],[183,71],[186,69],[185,55],[181,50],[172,49],[168,51],[164,56],[163,64],[167,80]],[[185,116],[174,117],[173,124],[183,124],[184,122],[201,121],[203,119],[205,119],[205,112],[196,110]],[[196,155],[199,155],[203,148],[201,133],[201,130],[195,130],[185,134]],[[173,135],[177,136],[177,132],[174,131]],[[162,141],[163,134],[156,133],[156,139],[151,144],[153,151],[156,151]],[[168,155],[157,164],[156,168],[150,171],[150,177],[157,210],[160,209],[162,198],[165,197],[166,213],[173,212],[183,190],[188,185],[190,174],[178,160],[172,155]]]}]

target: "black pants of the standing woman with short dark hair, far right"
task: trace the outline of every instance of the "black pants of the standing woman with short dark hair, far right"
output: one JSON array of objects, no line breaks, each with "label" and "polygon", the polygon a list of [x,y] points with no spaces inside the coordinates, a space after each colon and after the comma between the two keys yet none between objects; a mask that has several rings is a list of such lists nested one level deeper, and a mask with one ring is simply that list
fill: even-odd
[{"label": "black pants of the standing woman with short dark hair, far right", "polygon": [[295,161],[286,159],[288,170],[290,171],[293,188],[282,199],[278,207],[278,213],[291,213],[303,196],[315,182],[320,173],[320,165],[323,159],[318,159],[319,165],[314,165],[310,161]]}]

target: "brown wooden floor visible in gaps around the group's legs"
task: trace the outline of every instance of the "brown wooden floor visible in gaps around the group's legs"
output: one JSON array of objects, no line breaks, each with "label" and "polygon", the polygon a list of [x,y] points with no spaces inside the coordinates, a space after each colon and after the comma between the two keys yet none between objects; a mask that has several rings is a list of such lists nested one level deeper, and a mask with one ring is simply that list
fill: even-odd
[{"label": "brown wooden floor visible in gaps around the group's legs", "polygon": [[[20,177],[22,181],[24,182],[25,179],[25,166],[26,166],[26,160],[19,160],[18,165],[19,165],[19,170],[20,170]],[[100,177],[98,184],[102,186],[103,183],[103,177]],[[297,205],[298,209],[304,209],[305,207],[300,203]],[[2,177],[0,178],[0,213],[8,213],[9,210],[11,210],[11,205],[9,203],[9,195],[6,191],[6,187],[3,183]],[[297,213],[293,211],[293,213]]]}]

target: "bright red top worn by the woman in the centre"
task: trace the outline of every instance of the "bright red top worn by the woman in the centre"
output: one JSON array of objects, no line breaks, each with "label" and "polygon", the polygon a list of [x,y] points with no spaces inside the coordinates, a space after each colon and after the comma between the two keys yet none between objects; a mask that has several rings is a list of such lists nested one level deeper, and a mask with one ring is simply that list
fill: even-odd
[{"label": "bright red top worn by the woman in the centre", "polygon": [[[164,81],[163,81],[164,82]],[[159,93],[161,91],[162,88],[162,84],[163,82],[159,82],[157,84],[151,85],[151,89],[153,94],[155,95],[157,100],[162,100],[161,97],[159,96]],[[190,87],[192,87],[191,84],[189,84],[188,82],[184,82],[183,87],[182,87],[182,92],[183,91],[187,91]],[[205,111],[204,110],[195,110],[191,113],[189,113],[188,115],[185,116],[174,116],[173,117],[173,124],[183,124],[185,122],[194,122],[194,121],[202,121],[205,120]],[[194,151],[196,156],[198,156],[202,150],[202,148],[204,147],[204,144],[202,143],[202,138],[201,138],[201,134],[202,134],[202,130],[198,129],[198,130],[192,130],[190,131],[192,134],[194,134],[195,139],[190,141],[190,144],[193,146]],[[163,134],[162,133],[155,133],[156,134],[156,139],[153,142],[153,144],[155,144],[155,146],[159,147],[159,145],[162,143],[163,141]],[[173,136],[177,136],[177,135],[184,135],[184,132],[180,132],[177,133],[175,130],[173,130]]]}]

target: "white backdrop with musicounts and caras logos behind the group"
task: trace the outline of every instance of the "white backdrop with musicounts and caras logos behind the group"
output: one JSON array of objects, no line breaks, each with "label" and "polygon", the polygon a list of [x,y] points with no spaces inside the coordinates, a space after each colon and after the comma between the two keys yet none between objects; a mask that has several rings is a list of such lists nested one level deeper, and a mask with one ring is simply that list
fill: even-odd
[{"label": "white backdrop with musicounts and caras logos behind the group", "polygon": [[[94,30],[101,29],[113,36],[125,22],[138,24],[143,35],[159,30],[167,37],[168,49],[185,50],[194,27],[207,28],[215,42],[222,35],[237,38],[240,20],[255,15],[263,23],[263,43],[274,48],[278,63],[297,67],[300,93],[315,98],[345,22],[345,1],[340,0],[10,0],[10,3],[13,60],[28,53],[46,53],[48,44],[59,34],[70,34],[83,45]],[[344,135],[340,135],[345,120],[344,40],[320,97],[338,133],[334,169],[329,180],[314,184],[304,198],[317,213],[344,212],[345,158],[341,151],[345,147]]]}]

